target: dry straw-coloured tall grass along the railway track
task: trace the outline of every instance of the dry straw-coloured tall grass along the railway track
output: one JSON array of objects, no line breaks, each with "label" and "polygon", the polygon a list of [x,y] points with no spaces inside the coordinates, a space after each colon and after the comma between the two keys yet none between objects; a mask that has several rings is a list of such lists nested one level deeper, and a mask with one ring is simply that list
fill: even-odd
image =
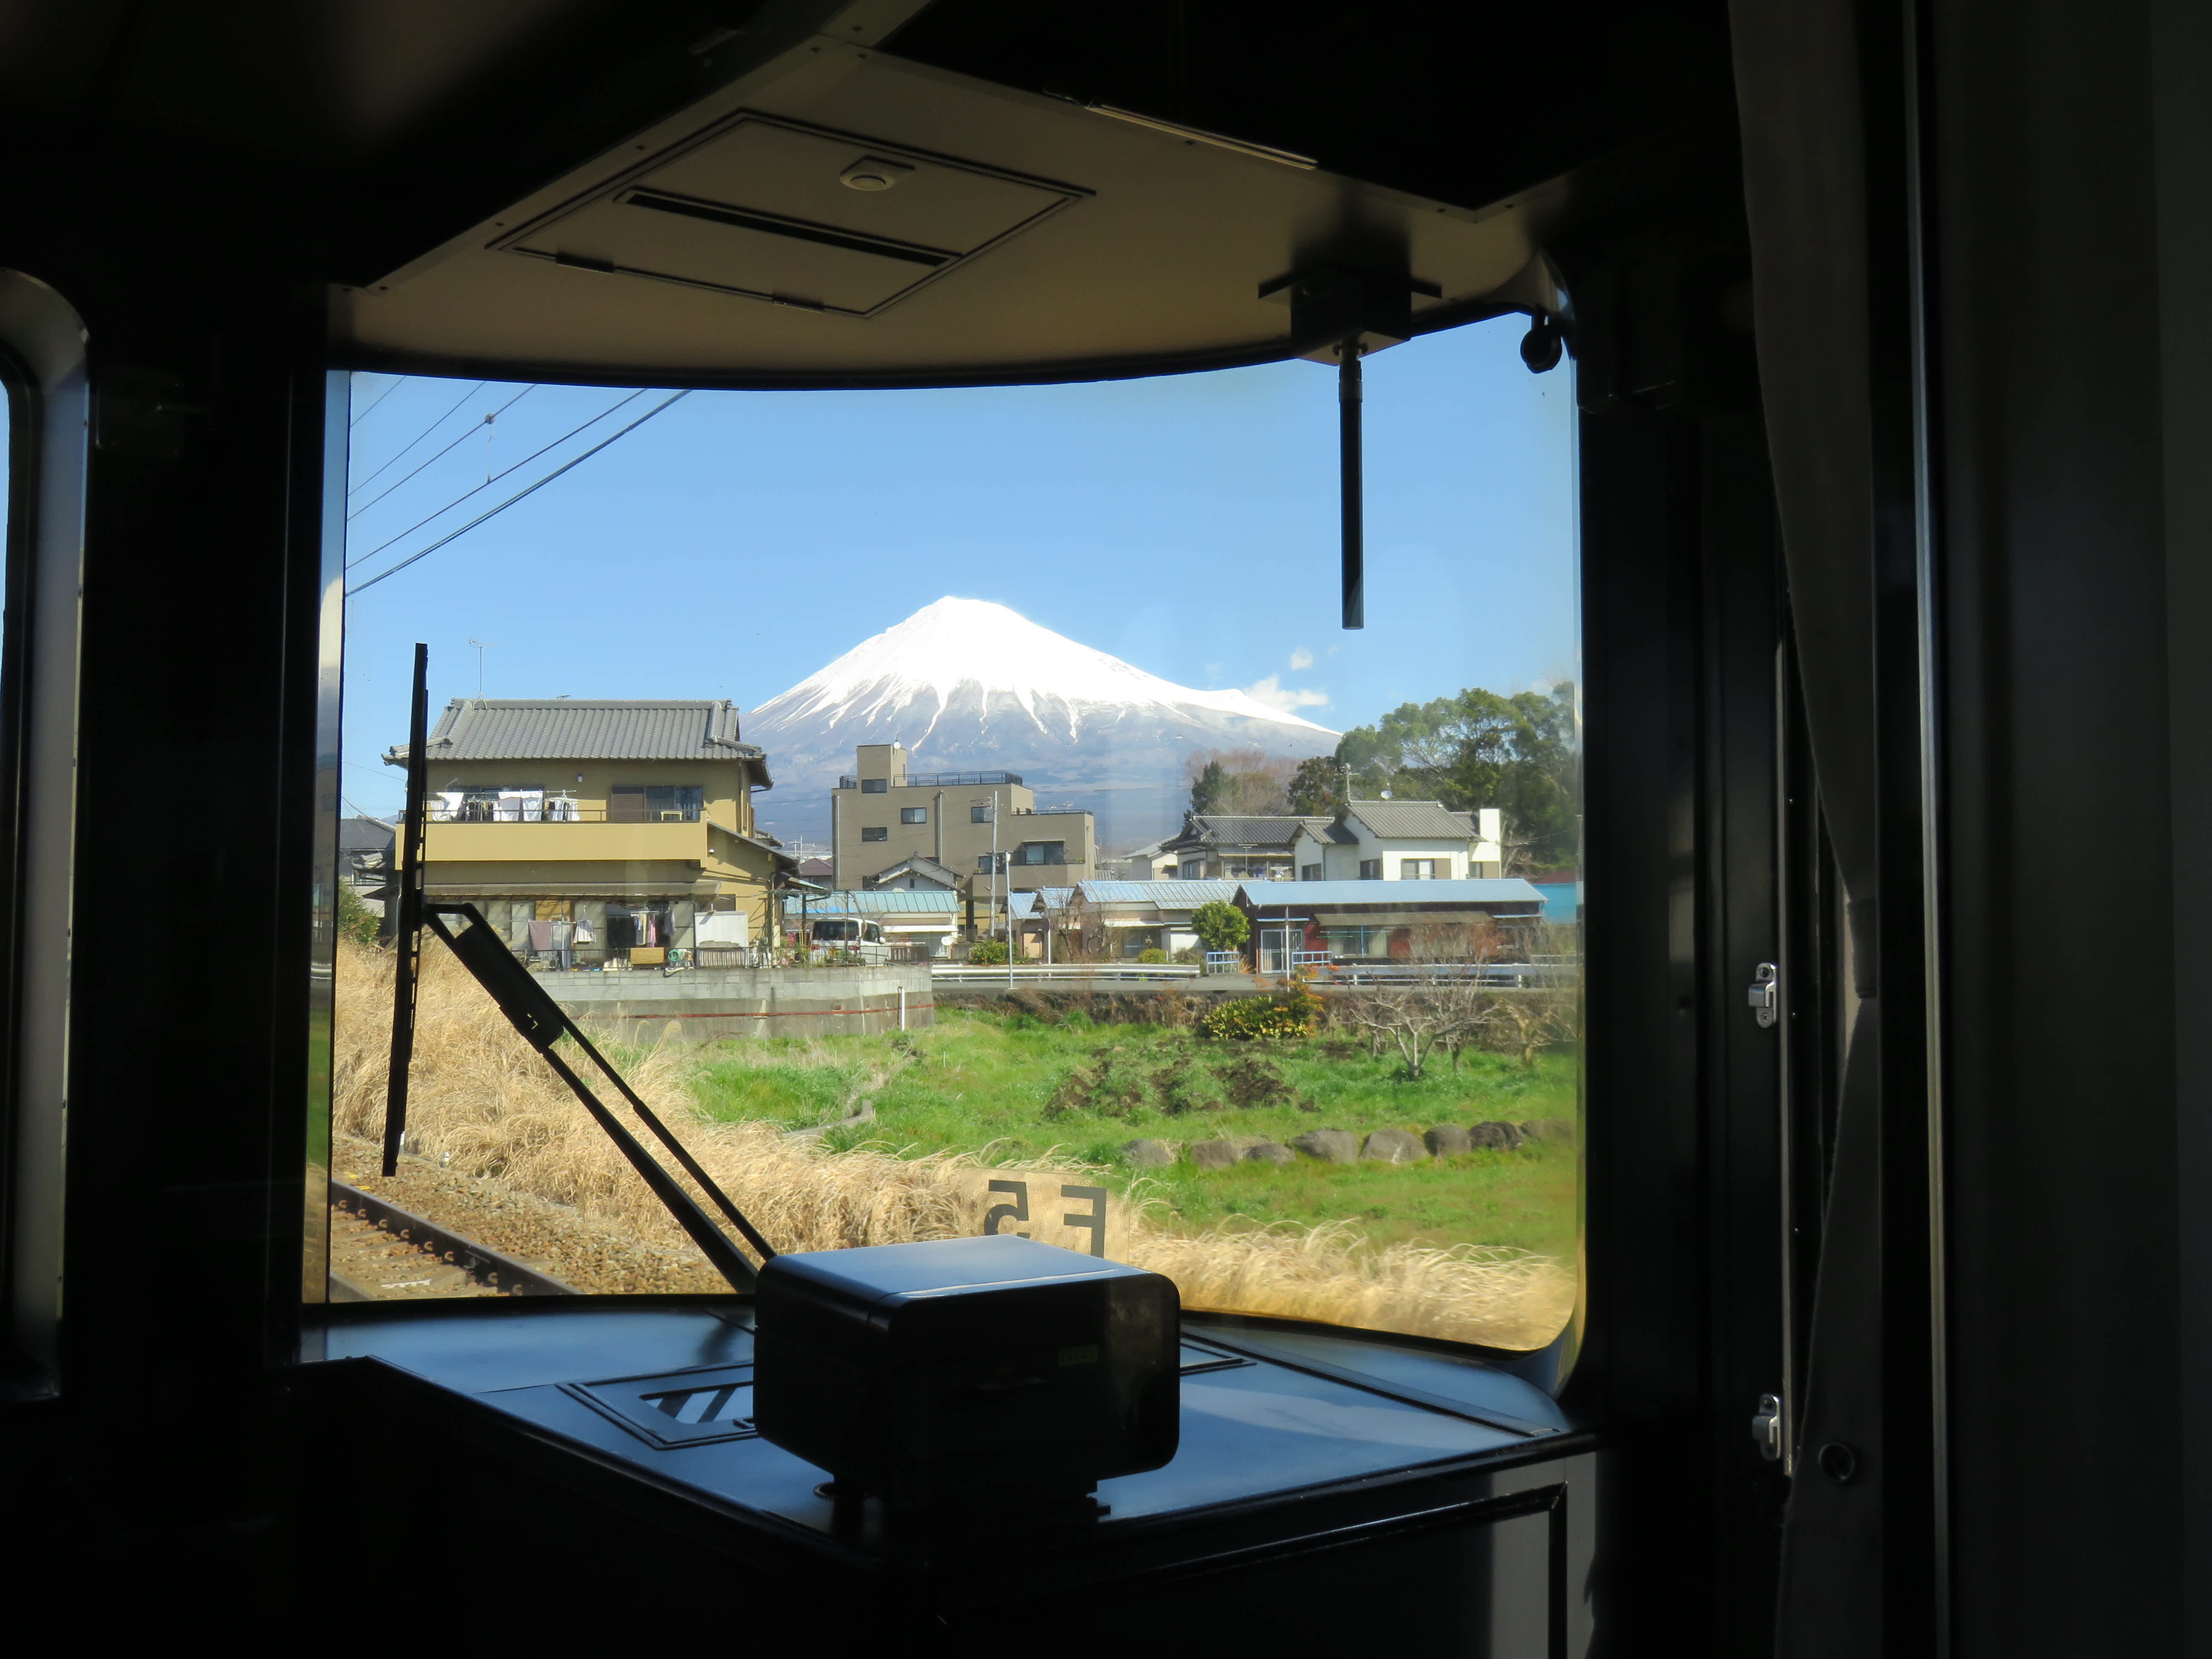
[{"label": "dry straw-coloured tall grass along the railway track", "polygon": [[[392,958],[341,945],[336,1000],[334,1126],[374,1139],[383,1133]],[[1009,1199],[991,1190],[993,1181],[1022,1181],[1024,1192],[1042,1183],[1031,1232],[1051,1243],[1088,1243],[1086,1232],[1060,1225],[1071,1206],[1057,1186],[1088,1186],[1097,1170],[1060,1159],[984,1164],[964,1152],[830,1152],[768,1124],[703,1119],[684,1066],[684,1051],[670,1044],[635,1057],[626,1077],[783,1250],[975,1234],[984,1210]],[[690,1241],[606,1135],[436,940],[425,940],[407,1130],[411,1148],[456,1168],[690,1254]],[[1495,1347],[1546,1343],[1573,1307],[1573,1279],[1544,1256],[1475,1245],[1374,1248],[1352,1228],[1177,1234],[1159,1223],[1141,1188],[1106,1201],[1106,1248],[1168,1274],[1186,1307]]]}]

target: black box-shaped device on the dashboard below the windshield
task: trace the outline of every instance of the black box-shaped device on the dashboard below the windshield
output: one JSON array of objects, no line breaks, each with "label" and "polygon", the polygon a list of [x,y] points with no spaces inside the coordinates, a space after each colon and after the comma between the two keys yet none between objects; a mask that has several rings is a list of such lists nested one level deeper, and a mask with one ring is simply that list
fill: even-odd
[{"label": "black box-shaped device on the dashboard below the windshield", "polygon": [[838,1495],[1075,1502],[1175,1455],[1179,1314],[1159,1274],[1006,1234],[776,1256],[754,1425]]}]

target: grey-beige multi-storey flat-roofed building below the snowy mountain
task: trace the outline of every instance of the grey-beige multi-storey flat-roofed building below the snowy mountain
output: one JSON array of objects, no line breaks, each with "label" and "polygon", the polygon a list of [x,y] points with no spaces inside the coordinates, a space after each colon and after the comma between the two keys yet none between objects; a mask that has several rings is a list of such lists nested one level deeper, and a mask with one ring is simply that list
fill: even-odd
[{"label": "grey-beige multi-storey flat-roofed building below the snowy mountain", "polygon": [[869,887],[911,858],[1000,894],[1073,887],[1097,869],[1088,812],[1037,812],[1020,772],[909,772],[898,743],[860,743],[854,772],[830,796],[830,841],[841,889]]}]

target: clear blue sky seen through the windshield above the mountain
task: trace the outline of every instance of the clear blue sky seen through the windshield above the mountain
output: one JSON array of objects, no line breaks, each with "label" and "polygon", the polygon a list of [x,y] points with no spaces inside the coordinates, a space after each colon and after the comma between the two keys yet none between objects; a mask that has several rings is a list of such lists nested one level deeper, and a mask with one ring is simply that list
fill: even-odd
[{"label": "clear blue sky seen through the windshield above the mountain", "polygon": [[[489,697],[754,708],[947,593],[1338,730],[1460,686],[1571,677],[1573,369],[1531,376],[1524,327],[1478,323],[1367,361],[1365,633],[1336,626],[1329,367],[695,392],[347,602],[345,799],[398,810],[400,774],[378,757],[407,734],[416,639],[431,650],[434,710],[476,695],[471,637],[493,641]],[[356,584],[661,396],[604,414],[628,392],[538,387],[487,427],[520,392],[356,376]]]}]

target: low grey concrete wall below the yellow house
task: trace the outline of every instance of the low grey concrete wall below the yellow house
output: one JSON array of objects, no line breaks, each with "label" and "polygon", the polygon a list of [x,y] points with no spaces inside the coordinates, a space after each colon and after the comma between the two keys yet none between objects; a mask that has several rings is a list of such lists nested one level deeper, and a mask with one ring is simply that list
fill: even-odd
[{"label": "low grey concrete wall below the yellow house", "polygon": [[659,973],[540,973],[588,1031],[617,1042],[719,1037],[852,1037],[914,1031],[936,1020],[929,969],[686,969]]}]

